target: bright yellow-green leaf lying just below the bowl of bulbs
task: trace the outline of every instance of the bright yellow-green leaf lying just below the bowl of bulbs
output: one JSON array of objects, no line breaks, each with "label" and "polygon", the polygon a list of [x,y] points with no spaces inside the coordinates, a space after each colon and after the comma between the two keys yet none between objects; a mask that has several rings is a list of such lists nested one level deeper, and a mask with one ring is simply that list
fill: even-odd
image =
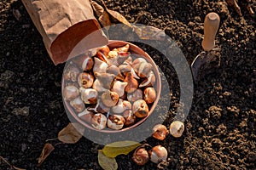
[{"label": "bright yellow-green leaf lying just below the bowl of bulbs", "polygon": [[106,144],[103,147],[102,151],[105,154],[105,156],[115,157],[121,154],[127,155],[131,152],[131,150],[136,149],[140,145],[141,145],[140,143],[125,140],[125,141],[113,142],[111,144]]}]

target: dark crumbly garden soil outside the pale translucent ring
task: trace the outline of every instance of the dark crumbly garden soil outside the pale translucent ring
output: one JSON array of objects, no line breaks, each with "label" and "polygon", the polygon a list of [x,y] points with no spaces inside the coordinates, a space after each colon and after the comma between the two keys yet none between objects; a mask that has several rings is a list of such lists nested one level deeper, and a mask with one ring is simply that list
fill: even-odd
[{"label": "dark crumbly garden soil outside the pale translucent ring", "polygon": [[[162,144],[168,150],[168,161],[158,168],[256,169],[255,18],[247,11],[247,1],[239,0],[242,17],[224,0],[105,2],[131,23],[165,29],[189,64],[202,50],[204,17],[212,11],[219,14],[216,48],[220,48],[220,65],[215,63],[201,71],[183,137],[174,139],[169,135],[164,141],[148,138],[144,142]],[[254,0],[252,4],[256,11]],[[20,20],[15,18],[14,9],[20,11]],[[85,138],[77,144],[56,145],[41,167],[37,167],[45,140],[55,139],[69,122],[61,99],[63,68],[64,64],[55,66],[49,59],[42,37],[23,4],[1,0],[0,156],[16,167],[101,169],[97,150],[102,145]],[[168,78],[171,72],[166,70],[165,74],[168,82],[172,82]],[[178,93],[172,95],[178,99]],[[166,121],[166,126],[171,121]],[[137,166],[131,161],[131,154],[116,159],[119,169],[157,168],[152,162]],[[0,169],[8,168],[0,161]]]}]

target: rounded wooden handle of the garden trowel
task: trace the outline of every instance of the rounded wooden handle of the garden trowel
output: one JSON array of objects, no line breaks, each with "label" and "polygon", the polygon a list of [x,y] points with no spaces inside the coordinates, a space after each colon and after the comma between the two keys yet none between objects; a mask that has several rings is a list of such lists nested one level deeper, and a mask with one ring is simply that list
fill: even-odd
[{"label": "rounded wooden handle of the garden trowel", "polygon": [[205,51],[210,51],[215,46],[215,36],[218,31],[219,16],[216,13],[207,14],[204,22],[204,39],[201,46]]}]

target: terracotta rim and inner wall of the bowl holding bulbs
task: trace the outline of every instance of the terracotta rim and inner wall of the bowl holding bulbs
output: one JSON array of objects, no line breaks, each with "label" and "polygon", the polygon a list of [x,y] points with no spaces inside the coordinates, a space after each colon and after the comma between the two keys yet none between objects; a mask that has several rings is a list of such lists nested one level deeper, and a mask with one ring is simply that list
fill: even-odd
[{"label": "terracotta rim and inner wall of the bowl holding bulbs", "polygon": [[[160,99],[160,93],[161,93],[160,73],[159,73],[157,65],[155,65],[155,63],[154,63],[154,60],[146,52],[144,52],[142,48],[137,47],[136,45],[132,44],[131,42],[109,40],[108,41],[108,47],[110,49],[119,48],[119,47],[125,46],[127,43],[130,45],[129,51],[131,52],[131,54],[137,54],[139,57],[143,57],[144,59],[146,59],[148,61],[148,63],[153,65],[154,76],[155,76],[155,79],[156,79],[156,82],[154,83],[156,98],[155,98],[154,104],[148,106],[148,109],[149,109],[148,116],[150,116],[153,113],[154,108],[156,107],[156,105],[157,105],[157,103]],[[63,88],[65,88],[65,84],[66,83],[65,83],[65,81],[63,80],[63,77],[62,77],[62,91],[63,91]],[[131,125],[130,127],[123,127],[120,130],[112,130],[108,127],[104,128],[102,130],[98,130],[98,129],[92,127],[89,123],[84,122],[82,119],[80,119],[79,116],[77,115],[77,113],[75,111],[73,111],[72,106],[69,105],[69,103],[66,100],[63,99],[63,103],[64,103],[65,109],[67,111],[67,114],[69,116],[72,116],[71,118],[74,118],[75,121],[79,122],[84,127],[90,128],[91,130],[95,130],[95,131],[98,131],[98,132],[101,132],[101,133],[119,133],[119,132],[127,131],[131,128],[137,127],[138,125],[142,124],[148,118],[148,116],[146,116],[146,117],[140,119],[135,124]]]}]

